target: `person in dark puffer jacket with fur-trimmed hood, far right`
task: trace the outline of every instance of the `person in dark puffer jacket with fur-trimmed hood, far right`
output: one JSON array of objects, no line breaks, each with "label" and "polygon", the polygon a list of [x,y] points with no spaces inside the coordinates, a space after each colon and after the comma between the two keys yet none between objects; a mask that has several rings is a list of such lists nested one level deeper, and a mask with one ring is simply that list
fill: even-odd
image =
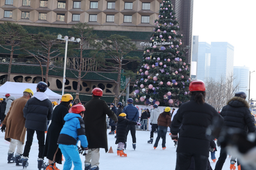
[{"label": "person in dark puffer jacket with fur-trimmed hood, far right", "polygon": [[[231,98],[227,105],[222,108],[220,115],[224,117],[224,125],[226,128],[238,128],[244,134],[256,131],[255,123],[250,113],[250,106],[245,100],[246,94],[242,91],[236,92],[235,97]],[[227,158],[226,149],[221,147],[220,157],[215,166],[215,170],[221,170]],[[230,167],[234,166],[235,162],[230,162]],[[237,161],[238,168],[240,166],[239,158]],[[242,170],[242,167],[240,167]]]}]

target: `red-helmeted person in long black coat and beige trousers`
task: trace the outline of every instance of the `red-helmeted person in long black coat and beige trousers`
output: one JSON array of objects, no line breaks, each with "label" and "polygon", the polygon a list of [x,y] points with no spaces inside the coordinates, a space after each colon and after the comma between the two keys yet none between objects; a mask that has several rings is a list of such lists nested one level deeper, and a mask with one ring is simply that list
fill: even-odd
[{"label": "red-helmeted person in long black coat and beige trousers", "polygon": [[104,100],[100,100],[103,92],[100,88],[92,90],[92,99],[87,102],[84,112],[85,135],[88,140],[88,154],[85,156],[85,170],[98,170],[100,164],[100,148],[108,152],[106,115],[117,122],[116,114],[111,111]]}]

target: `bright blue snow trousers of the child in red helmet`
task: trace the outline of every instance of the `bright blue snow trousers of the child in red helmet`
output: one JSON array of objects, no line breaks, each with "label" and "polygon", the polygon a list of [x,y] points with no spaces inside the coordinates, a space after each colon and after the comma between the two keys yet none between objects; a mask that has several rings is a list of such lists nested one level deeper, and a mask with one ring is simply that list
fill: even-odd
[{"label": "bright blue snow trousers of the child in red helmet", "polygon": [[74,170],[82,170],[82,162],[76,145],[59,144],[59,148],[65,158],[63,170],[71,170],[72,161],[75,166]]}]

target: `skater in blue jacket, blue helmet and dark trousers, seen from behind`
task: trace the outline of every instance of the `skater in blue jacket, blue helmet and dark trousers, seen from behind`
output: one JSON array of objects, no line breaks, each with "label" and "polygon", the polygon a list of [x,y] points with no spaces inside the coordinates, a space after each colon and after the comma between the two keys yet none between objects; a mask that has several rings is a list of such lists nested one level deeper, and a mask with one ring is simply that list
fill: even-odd
[{"label": "skater in blue jacket, blue helmet and dark trousers, seen from behind", "polygon": [[[128,98],[127,100],[128,106],[125,106],[123,109],[123,113],[126,113],[126,118],[130,121],[137,121],[139,118],[139,110],[133,106],[133,99]],[[127,135],[131,131],[132,135],[132,148],[136,149],[136,125],[128,125],[127,133],[126,133],[126,142],[127,142]],[[126,149],[126,143],[124,144],[124,149]]]}]

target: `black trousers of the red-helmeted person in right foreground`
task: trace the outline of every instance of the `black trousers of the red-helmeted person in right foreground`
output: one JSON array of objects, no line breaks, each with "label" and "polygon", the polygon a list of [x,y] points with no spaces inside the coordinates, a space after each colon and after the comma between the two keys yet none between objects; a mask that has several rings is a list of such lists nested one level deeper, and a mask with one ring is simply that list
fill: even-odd
[{"label": "black trousers of the red-helmeted person in right foreground", "polygon": [[176,168],[175,170],[188,170],[191,164],[191,158],[194,158],[195,170],[207,170],[208,156],[199,154],[190,154],[177,152]]}]

